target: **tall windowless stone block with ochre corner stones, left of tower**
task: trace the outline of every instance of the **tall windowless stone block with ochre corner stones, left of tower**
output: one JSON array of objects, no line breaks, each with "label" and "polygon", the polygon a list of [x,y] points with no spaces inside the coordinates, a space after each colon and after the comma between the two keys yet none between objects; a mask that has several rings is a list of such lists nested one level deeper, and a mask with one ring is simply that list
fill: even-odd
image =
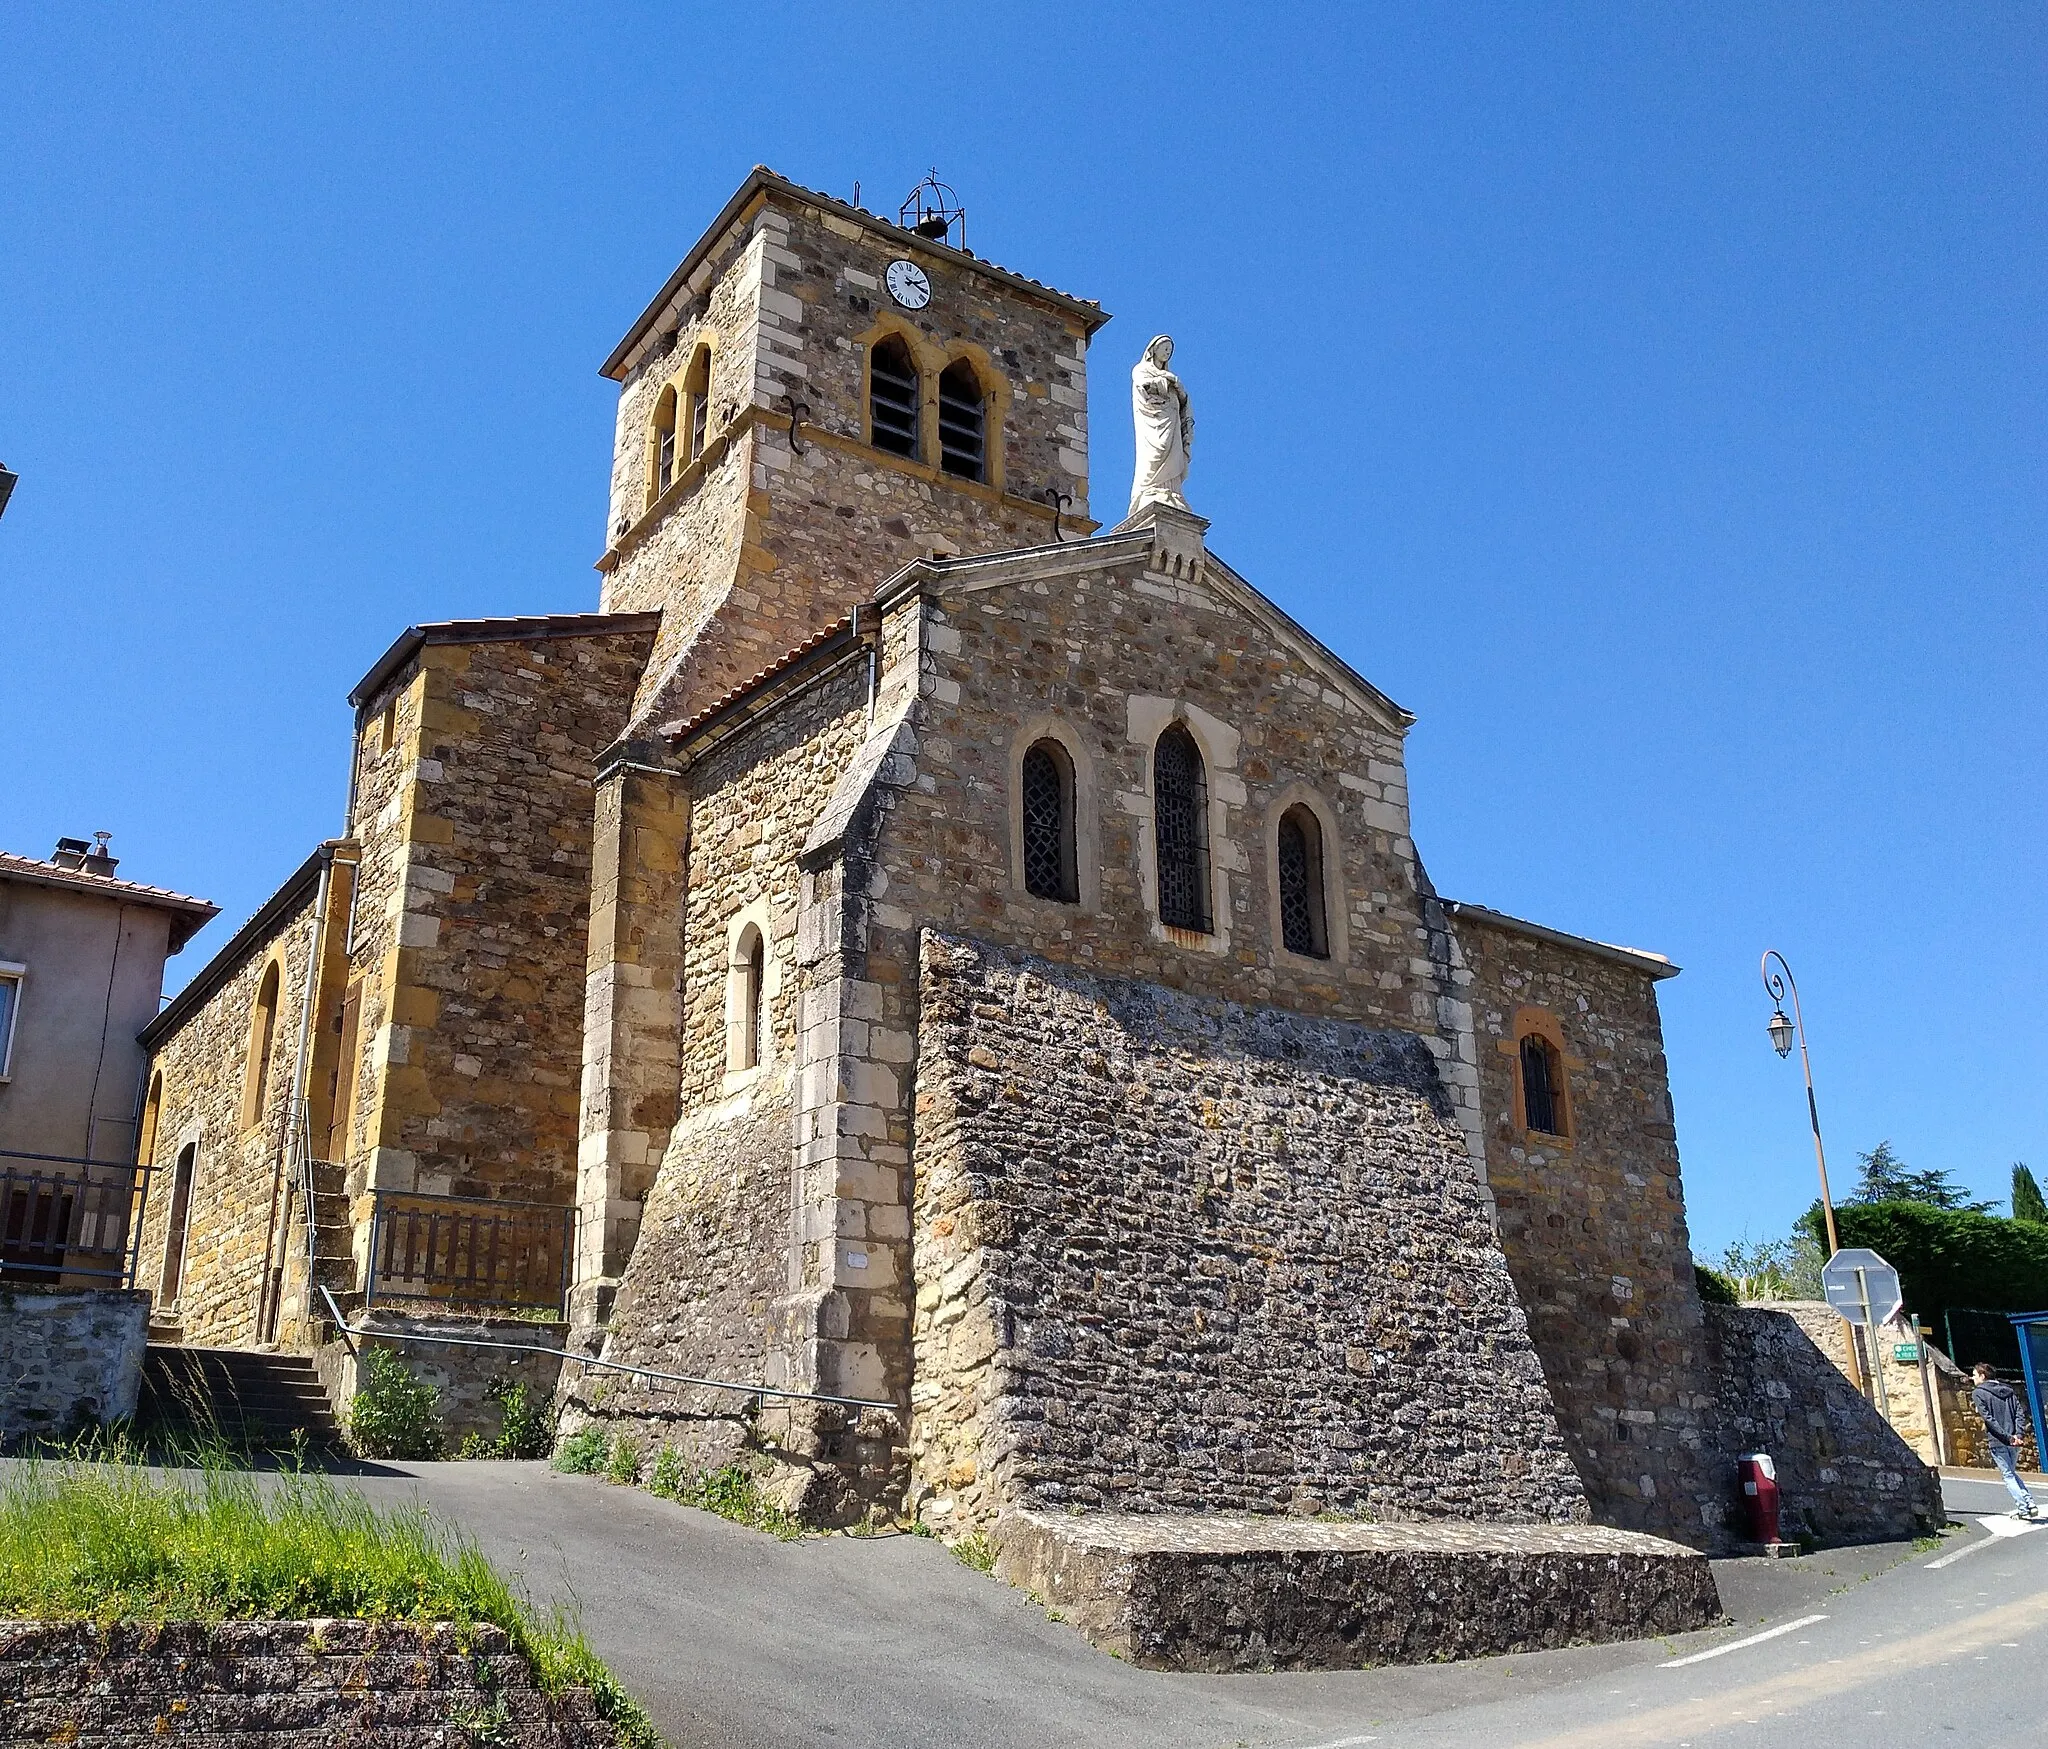
[{"label": "tall windowless stone block with ochre corner stones, left of tower", "polygon": [[592,774],[651,633],[436,641],[389,688],[399,758],[356,811],[356,1196],[573,1200]]}]

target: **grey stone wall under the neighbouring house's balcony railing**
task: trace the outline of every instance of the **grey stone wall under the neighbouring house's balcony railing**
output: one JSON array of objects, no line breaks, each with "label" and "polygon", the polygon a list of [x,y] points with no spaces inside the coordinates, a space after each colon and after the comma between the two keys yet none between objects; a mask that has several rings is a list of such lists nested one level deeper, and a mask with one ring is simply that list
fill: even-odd
[{"label": "grey stone wall under the neighbouring house's balcony railing", "polygon": [[150,1296],[0,1282],[0,1452],[135,1413]]}]

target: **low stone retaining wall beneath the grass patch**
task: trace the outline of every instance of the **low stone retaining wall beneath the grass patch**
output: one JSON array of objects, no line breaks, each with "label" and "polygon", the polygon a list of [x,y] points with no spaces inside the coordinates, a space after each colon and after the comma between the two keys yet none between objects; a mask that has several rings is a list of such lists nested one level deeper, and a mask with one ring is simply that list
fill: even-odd
[{"label": "low stone retaining wall beneath the grass patch", "polygon": [[446,1622],[0,1622],[0,1749],[610,1749],[502,1628]]}]

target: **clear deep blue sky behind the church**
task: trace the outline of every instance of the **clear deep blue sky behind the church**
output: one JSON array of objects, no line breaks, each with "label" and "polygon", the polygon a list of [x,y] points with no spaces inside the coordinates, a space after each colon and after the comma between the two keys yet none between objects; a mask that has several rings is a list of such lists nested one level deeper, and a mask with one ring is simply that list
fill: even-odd
[{"label": "clear deep blue sky behind the church", "polygon": [[1419,715],[1438,887],[1657,948],[1696,1249],[1821,1114],[2048,1167],[2048,27],[2019,6],[70,6],[0,23],[0,846],[227,928],[408,625],[580,610],[598,362],[745,168],[1153,332],[1210,541]]}]

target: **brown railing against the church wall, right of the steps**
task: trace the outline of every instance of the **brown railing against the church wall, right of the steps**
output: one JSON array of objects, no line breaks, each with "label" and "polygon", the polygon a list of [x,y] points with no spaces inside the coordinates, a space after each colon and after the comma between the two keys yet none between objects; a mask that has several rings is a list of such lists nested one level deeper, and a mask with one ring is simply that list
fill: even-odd
[{"label": "brown railing against the church wall, right of the steps", "polygon": [[573,1253],[573,1208],[379,1190],[362,1298],[561,1313]]}]

